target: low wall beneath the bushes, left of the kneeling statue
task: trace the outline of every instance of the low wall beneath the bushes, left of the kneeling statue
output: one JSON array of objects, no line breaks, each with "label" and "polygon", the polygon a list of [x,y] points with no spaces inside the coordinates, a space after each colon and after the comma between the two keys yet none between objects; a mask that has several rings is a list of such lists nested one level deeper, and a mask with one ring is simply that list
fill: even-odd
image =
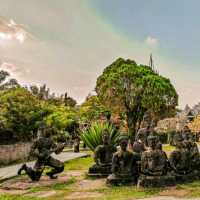
[{"label": "low wall beneath the bushes, left of the kneeling statue", "polygon": [[0,165],[26,160],[32,143],[0,145]]}]

